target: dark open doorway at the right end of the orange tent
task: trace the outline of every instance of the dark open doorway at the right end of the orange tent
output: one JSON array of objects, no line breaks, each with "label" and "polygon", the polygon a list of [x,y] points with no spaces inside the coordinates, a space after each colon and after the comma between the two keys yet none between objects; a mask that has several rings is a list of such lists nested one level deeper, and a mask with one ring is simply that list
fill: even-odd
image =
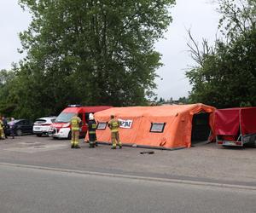
[{"label": "dark open doorway at the right end of the orange tent", "polygon": [[191,132],[192,144],[208,140],[211,131],[209,116],[210,114],[207,112],[201,112],[193,116]]}]

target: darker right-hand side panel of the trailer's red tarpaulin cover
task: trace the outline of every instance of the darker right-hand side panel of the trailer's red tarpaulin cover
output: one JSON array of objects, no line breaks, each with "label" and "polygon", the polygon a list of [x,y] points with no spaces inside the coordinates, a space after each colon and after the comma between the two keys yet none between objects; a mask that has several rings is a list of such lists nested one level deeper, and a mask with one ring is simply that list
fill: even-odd
[{"label": "darker right-hand side panel of the trailer's red tarpaulin cover", "polygon": [[256,107],[241,109],[241,134],[256,133]]}]

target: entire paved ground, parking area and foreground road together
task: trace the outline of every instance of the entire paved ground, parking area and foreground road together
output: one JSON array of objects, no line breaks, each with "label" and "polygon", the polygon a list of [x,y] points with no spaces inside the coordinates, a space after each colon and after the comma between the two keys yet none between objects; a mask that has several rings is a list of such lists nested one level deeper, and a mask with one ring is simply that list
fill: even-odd
[{"label": "entire paved ground, parking area and foreground road together", "polygon": [[256,149],[71,149],[35,135],[0,141],[0,213],[256,212]]}]

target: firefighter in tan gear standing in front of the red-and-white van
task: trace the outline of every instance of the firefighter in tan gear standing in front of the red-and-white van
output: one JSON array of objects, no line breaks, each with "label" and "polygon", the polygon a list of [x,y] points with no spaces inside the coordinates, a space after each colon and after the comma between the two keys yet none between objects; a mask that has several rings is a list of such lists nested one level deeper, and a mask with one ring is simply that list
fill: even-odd
[{"label": "firefighter in tan gear standing in front of the red-and-white van", "polygon": [[79,130],[82,124],[81,118],[78,115],[74,115],[71,118],[71,148],[80,148],[79,147]]}]

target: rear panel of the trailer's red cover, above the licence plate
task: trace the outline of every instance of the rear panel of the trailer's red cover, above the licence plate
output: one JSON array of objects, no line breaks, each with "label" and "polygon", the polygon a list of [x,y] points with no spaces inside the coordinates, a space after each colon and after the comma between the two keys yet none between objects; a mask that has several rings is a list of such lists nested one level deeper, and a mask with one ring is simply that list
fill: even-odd
[{"label": "rear panel of the trailer's red cover, above the licence plate", "polygon": [[215,111],[215,134],[237,135],[239,132],[240,109],[220,109]]}]

